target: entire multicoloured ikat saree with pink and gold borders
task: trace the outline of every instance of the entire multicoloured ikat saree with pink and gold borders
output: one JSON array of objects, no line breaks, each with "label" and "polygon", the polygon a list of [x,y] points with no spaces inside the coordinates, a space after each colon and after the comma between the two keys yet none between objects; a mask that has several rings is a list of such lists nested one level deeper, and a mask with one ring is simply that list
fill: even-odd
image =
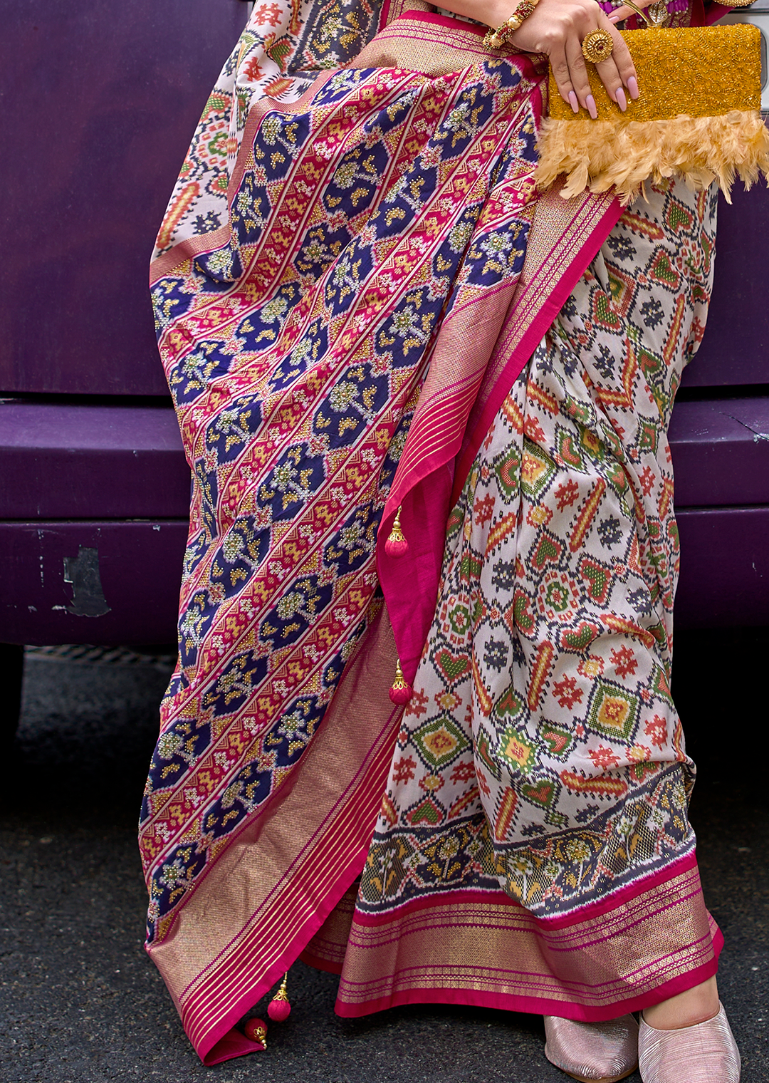
[{"label": "entire multicoloured ikat saree with pink and gold borders", "polygon": [[147,950],[204,1064],[303,953],[342,1014],[604,1019],[720,947],[665,438],[713,196],[539,193],[542,58],[409,8],[256,5],[151,266],[193,493]]}]

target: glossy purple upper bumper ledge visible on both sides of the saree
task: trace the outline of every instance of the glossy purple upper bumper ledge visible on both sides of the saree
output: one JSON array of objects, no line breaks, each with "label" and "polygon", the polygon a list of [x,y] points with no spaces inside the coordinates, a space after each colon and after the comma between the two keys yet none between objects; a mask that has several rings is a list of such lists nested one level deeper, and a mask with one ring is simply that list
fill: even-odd
[{"label": "glossy purple upper bumper ledge visible on both sides of the saree", "polygon": [[[769,399],[679,402],[676,506],[769,505]],[[185,519],[169,407],[0,404],[0,519]]]}]

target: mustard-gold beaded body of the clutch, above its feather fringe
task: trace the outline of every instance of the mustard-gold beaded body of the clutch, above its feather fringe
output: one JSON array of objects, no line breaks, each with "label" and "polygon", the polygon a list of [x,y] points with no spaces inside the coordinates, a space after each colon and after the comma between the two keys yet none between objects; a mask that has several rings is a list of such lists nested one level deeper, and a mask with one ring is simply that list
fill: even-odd
[{"label": "mustard-gold beaded body of the clutch, above its feather fringe", "polygon": [[[732,109],[761,105],[760,30],[730,26],[681,26],[667,30],[622,30],[638,73],[640,91],[622,113],[611,101],[594,64],[587,65],[591,90],[604,120],[668,120],[718,117]],[[585,117],[571,112],[549,75],[549,115],[557,120]]]}]

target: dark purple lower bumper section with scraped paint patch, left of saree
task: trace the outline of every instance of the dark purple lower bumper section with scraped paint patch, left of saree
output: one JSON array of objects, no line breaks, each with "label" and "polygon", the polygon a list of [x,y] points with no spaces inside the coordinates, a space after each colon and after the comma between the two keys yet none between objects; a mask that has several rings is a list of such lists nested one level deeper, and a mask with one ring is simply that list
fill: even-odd
[{"label": "dark purple lower bumper section with scraped paint patch, left of saree", "polygon": [[174,642],[186,539],[169,520],[0,523],[0,640]]}]

